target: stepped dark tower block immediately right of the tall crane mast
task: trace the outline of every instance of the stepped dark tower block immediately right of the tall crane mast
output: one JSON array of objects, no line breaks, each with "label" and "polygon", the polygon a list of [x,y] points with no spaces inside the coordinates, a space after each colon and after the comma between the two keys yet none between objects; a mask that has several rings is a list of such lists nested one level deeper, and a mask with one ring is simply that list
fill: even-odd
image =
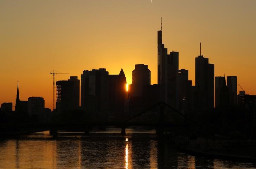
[{"label": "stepped dark tower block immediately right of the tall crane mast", "polygon": [[79,107],[79,79],[71,76],[69,80],[56,82],[56,110],[63,112]]}]

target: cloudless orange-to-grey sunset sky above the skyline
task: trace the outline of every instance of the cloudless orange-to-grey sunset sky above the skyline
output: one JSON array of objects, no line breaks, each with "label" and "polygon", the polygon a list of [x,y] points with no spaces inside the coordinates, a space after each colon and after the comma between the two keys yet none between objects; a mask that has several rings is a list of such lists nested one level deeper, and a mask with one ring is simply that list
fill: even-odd
[{"label": "cloudless orange-to-grey sunset sky above the skyline", "polygon": [[123,68],[132,83],[134,64],[147,64],[157,83],[157,30],[179,51],[179,69],[194,84],[195,57],[215,64],[215,76],[237,76],[256,95],[255,0],[0,0],[0,104],[41,96],[52,108],[56,80],[83,70]]}]

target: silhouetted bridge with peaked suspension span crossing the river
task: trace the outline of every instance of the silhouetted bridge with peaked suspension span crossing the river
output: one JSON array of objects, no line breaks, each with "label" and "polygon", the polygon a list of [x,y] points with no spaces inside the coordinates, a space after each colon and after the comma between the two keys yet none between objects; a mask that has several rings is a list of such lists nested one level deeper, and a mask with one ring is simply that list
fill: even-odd
[{"label": "silhouetted bridge with peaked suspension span crossing the river", "polygon": [[[158,120],[156,122],[137,122],[134,121],[137,117],[142,116],[143,114],[148,113],[153,108],[158,108]],[[169,108],[171,111],[166,111],[166,108]],[[173,122],[167,121],[165,119],[165,114],[172,114],[176,113],[179,115],[179,117],[184,118],[185,115],[180,113],[178,110],[174,109],[173,107],[169,106],[168,104],[164,102],[159,102],[146,110],[137,113],[136,115],[122,120],[122,121],[90,121],[83,124],[30,124],[30,125],[23,125],[19,127],[7,127],[4,129],[1,129],[0,135],[2,136],[12,136],[12,135],[18,135],[18,134],[30,134],[35,132],[42,132],[42,131],[50,131],[50,135],[57,136],[58,130],[67,130],[67,129],[79,129],[83,130],[85,134],[89,133],[90,127],[93,126],[116,126],[121,128],[121,134],[125,135],[126,131],[125,129],[130,126],[154,126],[156,127],[156,134],[163,133],[164,127],[181,127],[185,126],[184,123],[181,124],[174,124]]]}]

